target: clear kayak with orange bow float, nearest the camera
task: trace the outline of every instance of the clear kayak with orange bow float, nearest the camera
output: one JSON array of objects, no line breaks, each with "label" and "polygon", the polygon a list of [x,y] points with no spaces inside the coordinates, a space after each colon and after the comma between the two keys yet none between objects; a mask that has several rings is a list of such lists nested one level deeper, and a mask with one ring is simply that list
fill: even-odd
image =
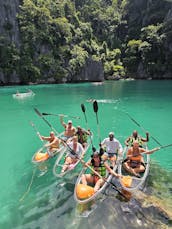
[{"label": "clear kayak with orange bow float, nearest the camera", "polygon": [[[118,157],[116,164],[113,168],[113,170],[115,172],[117,170],[119,162],[120,162],[120,158]],[[80,204],[86,204],[86,203],[94,200],[99,194],[101,194],[105,190],[105,188],[109,185],[109,182],[111,181],[111,179],[113,177],[113,175],[109,174],[109,172],[106,170],[106,176],[105,176],[106,182],[104,182],[102,187],[97,192],[94,192],[93,187],[91,187],[89,185],[83,185],[81,182],[82,175],[86,174],[86,173],[90,173],[90,170],[89,170],[89,168],[84,167],[82,169],[82,171],[80,172],[80,174],[76,180],[76,183],[75,183],[74,199],[76,200],[77,203],[80,203]],[[83,193],[81,193],[82,191],[83,191]],[[80,192],[79,195],[82,196],[82,198],[80,198],[80,196],[78,196],[79,192]]]}]

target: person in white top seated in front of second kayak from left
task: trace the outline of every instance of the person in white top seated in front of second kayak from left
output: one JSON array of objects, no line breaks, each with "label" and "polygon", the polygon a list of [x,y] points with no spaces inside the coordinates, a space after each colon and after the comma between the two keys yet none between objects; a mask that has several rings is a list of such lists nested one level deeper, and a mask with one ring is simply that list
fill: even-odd
[{"label": "person in white top seated in front of second kayak from left", "polygon": [[78,142],[78,137],[75,135],[72,140],[67,144],[69,153],[65,158],[65,163],[62,167],[61,172],[64,173],[71,166],[74,166],[75,163],[84,157],[85,151],[83,146]]}]

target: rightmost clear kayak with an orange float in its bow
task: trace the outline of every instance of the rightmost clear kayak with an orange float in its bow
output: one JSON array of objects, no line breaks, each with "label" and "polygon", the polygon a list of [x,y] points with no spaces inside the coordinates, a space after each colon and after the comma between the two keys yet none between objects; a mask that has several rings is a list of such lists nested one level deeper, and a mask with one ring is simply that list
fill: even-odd
[{"label": "rightmost clear kayak with an orange float in its bow", "polygon": [[144,153],[142,154],[143,159],[144,159],[145,171],[143,173],[140,173],[140,177],[136,177],[134,175],[131,175],[129,172],[127,172],[123,168],[123,163],[125,161],[127,151],[128,151],[128,147],[125,147],[124,152],[123,152],[123,161],[118,166],[118,174],[123,176],[122,179],[119,178],[119,181],[122,186],[122,189],[127,190],[129,192],[134,192],[138,189],[144,188],[144,184],[149,175],[150,155],[144,154]]}]

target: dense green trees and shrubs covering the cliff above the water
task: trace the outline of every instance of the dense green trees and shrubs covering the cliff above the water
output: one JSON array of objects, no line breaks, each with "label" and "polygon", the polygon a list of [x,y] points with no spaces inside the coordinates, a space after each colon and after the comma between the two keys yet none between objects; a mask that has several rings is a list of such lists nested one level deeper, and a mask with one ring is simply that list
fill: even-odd
[{"label": "dense green trees and shrubs covering the cliff above the water", "polygon": [[23,0],[20,46],[0,37],[0,68],[22,82],[72,80],[87,59],[103,63],[106,79],[172,73],[171,3],[139,1]]}]

